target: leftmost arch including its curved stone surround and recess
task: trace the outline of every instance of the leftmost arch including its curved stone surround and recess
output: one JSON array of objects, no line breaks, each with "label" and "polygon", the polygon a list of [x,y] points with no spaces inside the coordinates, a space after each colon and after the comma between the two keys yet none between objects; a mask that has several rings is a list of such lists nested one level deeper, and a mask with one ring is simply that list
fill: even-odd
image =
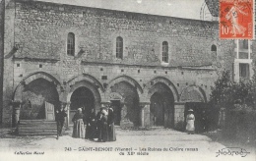
[{"label": "leftmost arch including its curved stone surround and recess", "polygon": [[13,94],[14,102],[20,102],[20,119],[45,119],[46,103],[58,108],[61,92],[60,81],[50,74],[36,72],[28,75],[17,85]]}]

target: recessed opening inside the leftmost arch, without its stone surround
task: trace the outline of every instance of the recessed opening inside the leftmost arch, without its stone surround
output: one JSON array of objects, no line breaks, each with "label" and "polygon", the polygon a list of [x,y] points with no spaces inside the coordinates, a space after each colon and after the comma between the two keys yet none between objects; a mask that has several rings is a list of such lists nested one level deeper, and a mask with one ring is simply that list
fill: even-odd
[{"label": "recessed opening inside the leftmost arch, without its stone surround", "polygon": [[36,79],[25,84],[21,92],[22,109],[20,120],[45,119],[45,103],[59,107],[56,84],[49,80]]}]

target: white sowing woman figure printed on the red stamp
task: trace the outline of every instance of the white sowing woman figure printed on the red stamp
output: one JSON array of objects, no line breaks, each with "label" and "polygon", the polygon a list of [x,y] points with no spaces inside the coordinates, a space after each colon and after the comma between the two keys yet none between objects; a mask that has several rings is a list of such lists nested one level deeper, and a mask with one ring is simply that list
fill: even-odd
[{"label": "white sowing woman figure printed on the red stamp", "polygon": [[238,13],[240,13],[242,15],[246,15],[246,16],[248,15],[247,13],[242,11],[242,6],[239,6],[238,1],[235,0],[231,9],[225,15],[225,19],[230,20],[230,22],[231,22],[231,25],[232,25],[231,32],[232,32],[233,36],[236,36],[236,34],[242,34],[242,36],[244,36],[246,27],[242,27],[239,24]]}]

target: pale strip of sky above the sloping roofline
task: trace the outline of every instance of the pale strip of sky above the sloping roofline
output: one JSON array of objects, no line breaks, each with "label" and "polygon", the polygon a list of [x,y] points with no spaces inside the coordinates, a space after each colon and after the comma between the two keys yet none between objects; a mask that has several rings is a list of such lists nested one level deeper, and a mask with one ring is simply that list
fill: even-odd
[{"label": "pale strip of sky above the sloping roofline", "polygon": [[[40,0],[38,0],[40,1]],[[110,10],[200,20],[204,0],[41,0]],[[208,10],[208,9],[207,9]]]}]

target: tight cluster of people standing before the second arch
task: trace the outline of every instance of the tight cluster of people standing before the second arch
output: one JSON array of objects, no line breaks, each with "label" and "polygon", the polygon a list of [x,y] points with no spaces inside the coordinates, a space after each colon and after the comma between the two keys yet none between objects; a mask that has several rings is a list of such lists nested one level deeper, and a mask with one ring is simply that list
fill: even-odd
[{"label": "tight cluster of people standing before the second arch", "polygon": [[92,109],[88,115],[83,114],[82,108],[79,108],[72,121],[73,137],[91,140],[97,138],[97,141],[102,142],[116,140],[113,108],[109,106],[101,107],[97,114]]}]

